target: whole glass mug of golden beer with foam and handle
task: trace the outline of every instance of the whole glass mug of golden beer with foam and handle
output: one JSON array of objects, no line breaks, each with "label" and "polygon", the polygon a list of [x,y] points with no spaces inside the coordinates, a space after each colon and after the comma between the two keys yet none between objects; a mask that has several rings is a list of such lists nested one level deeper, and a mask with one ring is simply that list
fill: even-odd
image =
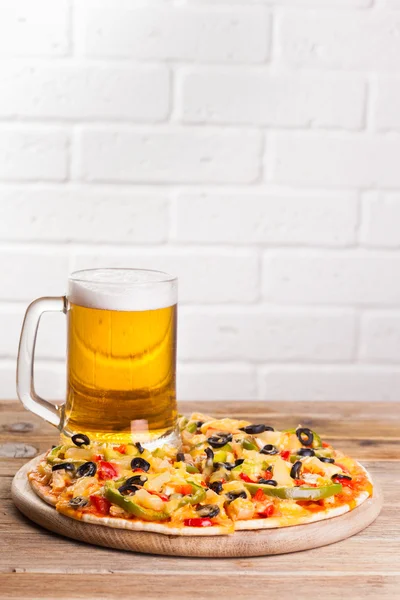
[{"label": "whole glass mug of golden beer with foam and handle", "polygon": [[[67,396],[61,406],[38,396],[34,353],[40,317],[68,323]],[[89,269],[68,280],[68,294],[39,298],[22,326],[17,391],[28,410],[63,437],[177,443],[177,279],[160,271]]]}]

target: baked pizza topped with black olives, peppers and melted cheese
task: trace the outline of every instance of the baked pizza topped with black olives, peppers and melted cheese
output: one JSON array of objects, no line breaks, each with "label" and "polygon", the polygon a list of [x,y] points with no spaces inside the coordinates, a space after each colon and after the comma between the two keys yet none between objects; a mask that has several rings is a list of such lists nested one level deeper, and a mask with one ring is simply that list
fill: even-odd
[{"label": "baked pizza topped with black olives, peppers and melted cheese", "polygon": [[72,519],[192,536],[329,519],[373,494],[367,471],[307,427],[195,413],[179,429],[181,448],[152,451],[76,434],[41,458],[30,484]]}]

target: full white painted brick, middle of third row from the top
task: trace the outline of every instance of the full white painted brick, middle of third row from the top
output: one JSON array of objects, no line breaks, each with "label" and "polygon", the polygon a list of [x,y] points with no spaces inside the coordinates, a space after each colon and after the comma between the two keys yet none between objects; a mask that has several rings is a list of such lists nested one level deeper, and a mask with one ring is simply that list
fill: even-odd
[{"label": "full white painted brick, middle of third row from the top", "polygon": [[260,134],[244,130],[86,129],[80,141],[87,181],[250,183],[261,162]]}]

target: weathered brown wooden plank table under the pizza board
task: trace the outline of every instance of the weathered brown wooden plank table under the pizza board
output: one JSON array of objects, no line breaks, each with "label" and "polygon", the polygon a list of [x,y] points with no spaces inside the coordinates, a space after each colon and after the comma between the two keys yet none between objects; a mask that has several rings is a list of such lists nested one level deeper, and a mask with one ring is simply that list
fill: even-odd
[{"label": "weathered brown wooden plank table under the pizza board", "polygon": [[[25,519],[10,497],[14,473],[57,442],[57,431],[16,402],[0,403],[0,598],[400,598],[400,404],[182,403],[276,428],[301,423],[360,459],[385,505],[359,535],[315,550],[246,559],[132,554],[64,539]],[[320,591],[318,591],[320,590]]]}]

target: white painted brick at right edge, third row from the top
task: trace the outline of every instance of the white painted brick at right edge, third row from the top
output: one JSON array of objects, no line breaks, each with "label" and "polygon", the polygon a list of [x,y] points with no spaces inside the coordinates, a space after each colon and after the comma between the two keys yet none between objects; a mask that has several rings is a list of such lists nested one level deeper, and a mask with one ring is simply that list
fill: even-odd
[{"label": "white painted brick at right edge, third row from the top", "polygon": [[400,186],[397,137],[277,133],[271,136],[268,146],[267,176],[276,183],[354,188]]}]

